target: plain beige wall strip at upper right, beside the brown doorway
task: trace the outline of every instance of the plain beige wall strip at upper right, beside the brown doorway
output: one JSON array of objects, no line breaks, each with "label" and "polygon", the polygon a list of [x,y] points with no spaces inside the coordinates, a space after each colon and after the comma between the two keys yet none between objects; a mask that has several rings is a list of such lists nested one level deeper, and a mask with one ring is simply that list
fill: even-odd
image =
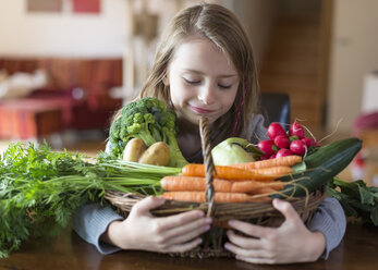
[{"label": "plain beige wall strip at upper right, beside the brown doorway", "polygon": [[[378,69],[378,1],[334,0],[328,130],[350,133],[361,112],[364,76]],[[378,102],[378,100],[377,100]]]}]

